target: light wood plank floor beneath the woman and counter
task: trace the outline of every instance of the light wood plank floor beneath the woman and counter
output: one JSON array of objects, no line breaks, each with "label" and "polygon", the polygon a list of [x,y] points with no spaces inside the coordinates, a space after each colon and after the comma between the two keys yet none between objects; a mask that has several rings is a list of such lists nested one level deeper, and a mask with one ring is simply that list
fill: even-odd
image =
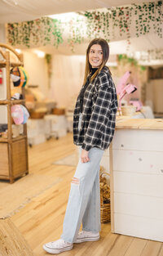
[{"label": "light wood plank floor beneath the woman and counter", "polygon": [[[73,154],[72,134],[51,139],[46,143],[29,149],[29,172],[39,173],[42,178],[49,175],[51,179],[59,178],[54,186],[42,191],[24,208],[11,217],[11,221],[20,229],[24,238],[33,249],[35,256],[50,255],[42,249],[42,245],[59,239],[62,233],[64,213],[68,200],[71,178],[75,168],[51,164],[55,160]],[[39,186],[39,184],[35,184]],[[29,189],[32,189],[29,187]],[[23,191],[22,191],[23,192]],[[112,234],[110,223],[102,225],[101,239],[74,245],[73,250],[61,254],[63,256],[163,256],[162,243]],[[21,255],[15,255],[21,256]]]}]

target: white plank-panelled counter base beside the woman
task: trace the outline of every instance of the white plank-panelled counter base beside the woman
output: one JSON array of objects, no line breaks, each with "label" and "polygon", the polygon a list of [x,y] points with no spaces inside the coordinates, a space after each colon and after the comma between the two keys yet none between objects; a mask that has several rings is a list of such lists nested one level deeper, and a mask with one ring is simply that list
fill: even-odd
[{"label": "white plank-panelled counter base beside the woman", "polygon": [[163,127],[119,126],[111,182],[112,231],[163,241]]}]

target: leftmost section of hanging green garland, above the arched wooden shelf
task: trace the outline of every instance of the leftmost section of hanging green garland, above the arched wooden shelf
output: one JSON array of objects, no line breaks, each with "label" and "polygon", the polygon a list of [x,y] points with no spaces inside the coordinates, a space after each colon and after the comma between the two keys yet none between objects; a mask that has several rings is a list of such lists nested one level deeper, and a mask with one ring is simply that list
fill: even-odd
[{"label": "leftmost section of hanging green garland, above the arched wooden shelf", "polygon": [[7,39],[12,46],[41,46],[52,44],[58,47],[64,42],[60,20],[49,17],[7,25]]}]

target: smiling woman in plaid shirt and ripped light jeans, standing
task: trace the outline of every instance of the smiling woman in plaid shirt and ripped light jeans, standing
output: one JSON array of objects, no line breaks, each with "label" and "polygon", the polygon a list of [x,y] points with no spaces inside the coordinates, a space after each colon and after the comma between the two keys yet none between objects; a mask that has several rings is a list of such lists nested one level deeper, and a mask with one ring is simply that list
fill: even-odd
[{"label": "smiling woman in plaid shirt and ripped light jeans, standing", "polygon": [[[108,43],[92,40],[86,51],[84,85],[73,115],[73,142],[81,158],[71,182],[61,239],[43,245],[50,254],[73,249],[73,243],[99,240],[99,164],[112,141],[117,113],[117,93],[106,66]],[[82,231],[78,232],[82,222]]]}]

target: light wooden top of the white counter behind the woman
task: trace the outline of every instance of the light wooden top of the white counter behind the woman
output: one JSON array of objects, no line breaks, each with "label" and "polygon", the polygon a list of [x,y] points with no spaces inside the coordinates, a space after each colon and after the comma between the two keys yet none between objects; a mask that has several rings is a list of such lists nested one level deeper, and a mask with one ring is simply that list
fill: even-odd
[{"label": "light wooden top of the white counter behind the woman", "polygon": [[163,119],[130,119],[130,117],[118,116],[116,129],[163,130]]}]

